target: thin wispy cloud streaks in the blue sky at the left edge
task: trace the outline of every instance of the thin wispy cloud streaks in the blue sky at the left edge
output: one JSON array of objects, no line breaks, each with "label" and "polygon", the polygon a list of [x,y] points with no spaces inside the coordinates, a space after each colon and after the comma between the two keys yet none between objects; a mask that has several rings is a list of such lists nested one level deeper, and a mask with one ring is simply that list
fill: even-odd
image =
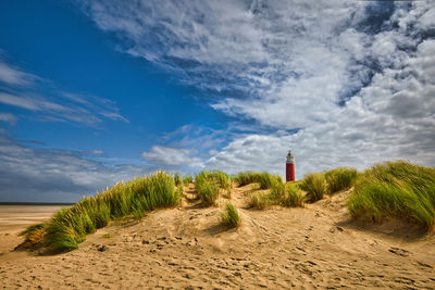
[{"label": "thin wispy cloud streaks in the blue sky at the left edge", "polygon": [[[129,123],[121,115],[113,101],[84,93],[64,92],[50,89],[40,93],[40,89],[51,83],[24,72],[1,59],[0,54],[0,103],[27,110],[38,118],[50,122],[73,122],[97,125],[103,119]],[[44,96],[41,96],[44,94]],[[14,118],[8,118],[11,124]],[[3,121],[4,116],[3,116]],[[13,122],[11,122],[13,121]]]}]

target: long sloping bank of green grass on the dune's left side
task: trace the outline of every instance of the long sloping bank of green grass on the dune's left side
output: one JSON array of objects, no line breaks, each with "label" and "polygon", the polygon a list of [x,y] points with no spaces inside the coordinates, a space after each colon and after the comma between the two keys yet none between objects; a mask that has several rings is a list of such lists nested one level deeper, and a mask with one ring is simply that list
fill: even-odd
[{"label": "long sloping bank of green grass on the dune's left side", "polygon": [[42,242],[55,252],[71,251],[78,248],[87,234],[104,227],[110,219],[141,217],[154,209],[175,206],[179,200],[173,177],[157,172],[84,198],[57,212],[48,223],[28,227],[22,235],[28,244]]}]

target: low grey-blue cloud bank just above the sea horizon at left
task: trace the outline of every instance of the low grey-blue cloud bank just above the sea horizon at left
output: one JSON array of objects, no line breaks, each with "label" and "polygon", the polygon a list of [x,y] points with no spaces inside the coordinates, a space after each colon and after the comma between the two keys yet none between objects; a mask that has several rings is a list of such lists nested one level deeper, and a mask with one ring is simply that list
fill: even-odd
[{"label": "low grey-blue cloud bank just above the sea horizon at left", "polygon": [[32,148],[4,134],[0,134],[0,201],[76,202],[147,172],[146,167],[107,165],[89,152]]}]

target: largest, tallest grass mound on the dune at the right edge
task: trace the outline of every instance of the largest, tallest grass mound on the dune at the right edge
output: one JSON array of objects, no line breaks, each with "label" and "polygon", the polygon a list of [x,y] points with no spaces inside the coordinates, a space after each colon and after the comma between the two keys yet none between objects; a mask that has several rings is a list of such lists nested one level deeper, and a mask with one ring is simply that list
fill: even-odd
[{"label": "largest, tallest grass mound on the dune at the right edge", "polygon": [[434,231],[435,168],[405,161],[374,165],[359,178],[347,206],[355,218],[397,218]]}]

